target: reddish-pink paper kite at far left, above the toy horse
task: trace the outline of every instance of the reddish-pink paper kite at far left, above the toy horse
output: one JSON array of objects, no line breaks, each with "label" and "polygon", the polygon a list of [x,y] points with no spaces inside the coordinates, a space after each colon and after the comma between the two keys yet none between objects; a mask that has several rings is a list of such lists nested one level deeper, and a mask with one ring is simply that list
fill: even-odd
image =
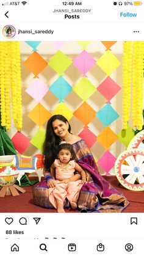
[{"label": "reddish-pink paper kite at far left, above the toy horse", "polygon": [[27,139],[27,137],[21,133],[20,131],[17,131],[17,133],[15,133],[15,135],[12,137],[12,143],[15,147],[15,149],[20,153],[23,154],[24,151],[27,149],[27,147],[29,147],[29,139]]}]

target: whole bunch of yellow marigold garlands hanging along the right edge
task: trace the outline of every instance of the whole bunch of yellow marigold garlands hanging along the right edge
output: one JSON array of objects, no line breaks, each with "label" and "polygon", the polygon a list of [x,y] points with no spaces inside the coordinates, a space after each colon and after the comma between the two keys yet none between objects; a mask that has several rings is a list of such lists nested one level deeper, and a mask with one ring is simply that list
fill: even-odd
[{"label": "whole bunch of yellow marigold garlands hanging along the right edge", "polygon": [[[123,43],[123,129],[128,128],[131,110],[132,122],[136,129],[143,125],[143,54],[144,42]],[[132,83],[131,83],[132,76]]]}]

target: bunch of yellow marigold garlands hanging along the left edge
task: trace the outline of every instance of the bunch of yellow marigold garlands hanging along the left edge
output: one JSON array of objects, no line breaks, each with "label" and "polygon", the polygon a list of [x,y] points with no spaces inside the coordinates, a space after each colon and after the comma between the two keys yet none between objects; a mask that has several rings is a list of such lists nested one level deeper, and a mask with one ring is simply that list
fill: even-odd
[{"label": "bunch of yellow marigold garlands hanging along the left edge", "polygon": [[10,128],[12,118],[18,130],[22,128],[20,43],[0,42],[1,125]]}]

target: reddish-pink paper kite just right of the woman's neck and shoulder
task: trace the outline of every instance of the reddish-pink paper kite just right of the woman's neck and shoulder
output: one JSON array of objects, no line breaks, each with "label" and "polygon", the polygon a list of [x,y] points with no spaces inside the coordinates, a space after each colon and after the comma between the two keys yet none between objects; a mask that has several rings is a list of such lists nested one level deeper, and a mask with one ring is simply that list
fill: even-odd
[{"label": "reddish-pink paper kite just right of the woman's neck and shoulder", "polygon": [[93,134],[87,127],[85,127],[78,136],[84,139],[89,148],[91,148],[96,142],[95,134]]}]

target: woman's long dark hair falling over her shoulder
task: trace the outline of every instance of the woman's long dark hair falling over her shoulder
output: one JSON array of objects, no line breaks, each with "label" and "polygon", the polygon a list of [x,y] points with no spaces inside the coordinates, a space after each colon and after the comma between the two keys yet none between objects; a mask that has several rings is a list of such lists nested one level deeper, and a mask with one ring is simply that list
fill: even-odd
[{"label": "woman's long dark hair falling over her shoulder", "polygon": [[[46,126],[46,136],[45,141],[43,143],[43,155],[45,155],[45,170],[49,172],[52,163],[54,163],[54,159],[57,158],[57,149],[59,147],[60,138],[56,136],[54,133],[54,129],[52,127],[52,123],[56,120],[60,120],[64,123],[68,123],[68,120],[63,117],[63,115],[52,115],[52,117],[48,120]],[[71,132],[70,123],[68,123],[68,131]]]}]

